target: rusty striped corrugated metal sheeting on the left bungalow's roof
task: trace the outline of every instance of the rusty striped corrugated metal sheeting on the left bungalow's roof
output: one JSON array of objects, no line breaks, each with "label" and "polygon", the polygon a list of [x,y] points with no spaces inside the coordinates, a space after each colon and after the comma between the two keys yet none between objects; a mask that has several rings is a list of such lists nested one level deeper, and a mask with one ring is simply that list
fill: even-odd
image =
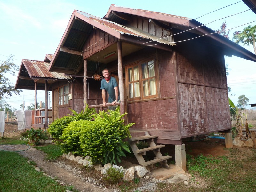
[{"label": "rusty striped corrugated metal sheeting on the left bungalow's roof", "polygon": [[48,67],[50,63],[36,60],[22,59],[22,64],[27,69],[29,76],[40,78],[55,78],[55,79],[72,79],[72,77],[64,76],[63,73],[50,72]]}]

